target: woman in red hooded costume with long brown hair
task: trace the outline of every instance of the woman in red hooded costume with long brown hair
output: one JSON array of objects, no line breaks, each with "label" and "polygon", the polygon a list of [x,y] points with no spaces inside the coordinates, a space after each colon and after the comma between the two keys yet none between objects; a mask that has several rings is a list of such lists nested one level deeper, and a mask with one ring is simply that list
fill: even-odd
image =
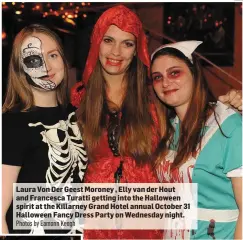
[{"label": "woman in red hooded costume with long brown hair", "polygon": [[[119,5],[95,24],[83,81],[71,102],[89,154],[89,183],[153,183],[151,154],[166,135],[148,93],[149,53],[142,23]],[[165,141],[166,142],[166,141]],[[160,231],[86,231],[86,238],[161,238]]]}]

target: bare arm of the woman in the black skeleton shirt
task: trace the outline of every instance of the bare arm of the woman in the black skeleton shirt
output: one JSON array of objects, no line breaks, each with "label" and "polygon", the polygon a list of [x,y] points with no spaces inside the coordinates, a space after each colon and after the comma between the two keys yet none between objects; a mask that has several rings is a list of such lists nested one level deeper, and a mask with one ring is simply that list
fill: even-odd
[{"label": "bare arm of the woman in the black skeleton shirt", "polygon": [[13,183],[17,182],[19,166],[2,165],[2,233],[8,233],[6,213],[13,199]]}]

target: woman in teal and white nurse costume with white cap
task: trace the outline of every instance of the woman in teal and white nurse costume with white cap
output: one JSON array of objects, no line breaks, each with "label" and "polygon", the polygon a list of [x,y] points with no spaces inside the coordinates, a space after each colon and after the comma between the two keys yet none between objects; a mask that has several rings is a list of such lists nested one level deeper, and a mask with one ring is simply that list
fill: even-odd
[{"label": "woman in teal and white nurse costume with white cap", "polygon": [[170,139],[169,150],[157,149],[158,177],[198,183],[198,228],[166,230],[164,239],[242,239],[242,117],[214,101],[192,55],[199,44],[168,44],[152,54],[153,87],[166,106]]}]

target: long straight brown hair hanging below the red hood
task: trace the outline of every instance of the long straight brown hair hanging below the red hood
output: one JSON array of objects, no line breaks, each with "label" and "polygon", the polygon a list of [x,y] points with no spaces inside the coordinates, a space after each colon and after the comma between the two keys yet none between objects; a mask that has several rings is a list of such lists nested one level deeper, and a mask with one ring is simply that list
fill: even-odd
[{"label": "long straight brown hair hanging below the red hood", "polygon": [[[134,56],[125,75],[126,90],[120,107],[119,152],[121,156],[131,156],[137,163],[151,159],[156,142],[163,135],[151,115],[151,98],[147,85],[146,66]],[[111,106],[106,98],[106,82],[101,64],[96,67],[86,86],[86,94],[78,110],[79,125],[82,129],[87,151],[92,154],[99,144],[102,132],[107,128],[106,106]],[[114,106],[114,104],[113,104]],[[163,126],[166,126],[163,124]]]}]

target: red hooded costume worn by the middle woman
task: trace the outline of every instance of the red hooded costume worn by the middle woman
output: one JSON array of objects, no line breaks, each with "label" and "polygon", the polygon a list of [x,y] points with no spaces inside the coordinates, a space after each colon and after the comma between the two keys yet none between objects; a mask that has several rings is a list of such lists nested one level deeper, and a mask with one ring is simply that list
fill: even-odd
[{"label": "red hooded costume worn by the middle woman", "polygon": [[[149,74],[150,58],[147,48],[147,39],[144,34],[142,23],[137,15],[123,5],[115,6],[105,11],[95,24],[91,47],[89,50],[83,81],[77,83],[71,92],[71,103],[79,107],[85,86],[95,68],[99,57],[99,47],[104,34],[110,25],[116,25],[125,32],[132,33],[137,39],[137,57],[147,66]],[[94,159],[90,162],[85,182],[107,183],[114,182],[114,173],[119,167],[121,158],[115,157],[111,152],[107,132],[101,136],[100,144],[95,150]],[[128,183],[153,183],[158,182],[155,173],[149,164],[137,166],[131,157],[123,158],[123,177],[121,182]],[[160,230],[85,230],[85,239],[161,239]]]}]

